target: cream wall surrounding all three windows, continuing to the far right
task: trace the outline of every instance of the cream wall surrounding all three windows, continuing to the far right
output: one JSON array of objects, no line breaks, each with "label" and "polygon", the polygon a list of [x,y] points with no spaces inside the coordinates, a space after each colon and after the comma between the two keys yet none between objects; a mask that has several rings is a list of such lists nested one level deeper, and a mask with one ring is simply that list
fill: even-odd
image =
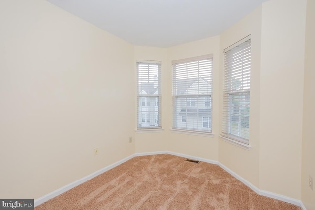
[{"label": "cream wall surrounding all three windows, continuing to the far right", "polygon": [[[136,47],[137,59],[157,60],[162,57],[165,60],[167,54],[162,72],[165,130],[155,135],[136,134],[136,151],[169,150],[219,160],[262,190],[301,199],[304,87],[304,72],[301,69],[304,69],[305,8],[306,0],[271,0],[253,10],[220,36],[171,47],[167,52],[165,49]],[[312,19],[310,14],[311,12],[308,19]],[[310,25],[311,23],[308,37],[313,37]],[[222,52],[224,48],[249,34],[252,44],[251,149],[244,150],[222,141],[219,137],[222,124]],[[308,49],[306,52],[311,57],[311,47]],[[214,138],[168,131],[172,126],[170,62],[209,53],[214,55]],[[307,64],[306,71],[312,68],[312,64]],[[308,74],[311,76],[310,70]],[[311,78],[308,77],[308,80],[311,81]],[[305,85],[309,87],[311,82]],[[307,110],[304,113],[304,124],[311,125],[313,118],[308,115],[312,107],[310,90],[305,90],[308,101],[304,103],[304,109]],[[310,148],[314,148],[310,139],[314,138],[311,138],[310,132],[310,128],[304,128],[306,155],[302,187],[308,174],[314,174],[314,168],[310,167],[313,164]],[[310,202],[313,194],[307,191],[308,188],[304,188],[305,200]]]}]

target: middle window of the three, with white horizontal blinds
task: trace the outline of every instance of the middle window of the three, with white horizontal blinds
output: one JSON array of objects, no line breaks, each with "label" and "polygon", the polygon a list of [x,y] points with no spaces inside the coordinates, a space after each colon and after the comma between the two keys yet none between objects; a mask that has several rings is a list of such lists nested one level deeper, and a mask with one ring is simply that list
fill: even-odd
[{"label": "middle window of the three, with white horizontal blinds", "polygon": [[172,89],[173,128],[211,133],[212,55],[172,61]]}]

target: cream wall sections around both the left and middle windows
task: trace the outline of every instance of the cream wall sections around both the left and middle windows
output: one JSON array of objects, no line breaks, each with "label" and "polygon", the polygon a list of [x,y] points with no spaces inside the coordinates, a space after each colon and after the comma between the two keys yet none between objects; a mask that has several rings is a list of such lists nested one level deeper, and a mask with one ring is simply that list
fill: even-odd
[{"label": "cream wall sections around both the left and middle windows", "polygon": [[[135,151],[172,151],[211,160],[218,160],[218,91],[219,36],[171,48],[135,47],[136,60],[162,61],[162,132],[135,134]],[[214,137],[170,132],[172,127],[171,61],[213,54],[213,130]]]}]

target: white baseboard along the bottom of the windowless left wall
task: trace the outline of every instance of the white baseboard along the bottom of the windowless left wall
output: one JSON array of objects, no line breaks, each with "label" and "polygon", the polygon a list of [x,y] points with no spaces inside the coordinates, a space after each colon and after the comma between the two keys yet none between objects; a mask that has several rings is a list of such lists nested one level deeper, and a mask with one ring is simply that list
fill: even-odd
[{"label": "white baseboard along the bottom of the windowless left wall", "polygon": [[78,185],[80,185],[80,184],[82,184],[82,183],[84,183],[84,182],[86,182],[88,180],[91,180],[92,178],[95,178],[96,176],[98,176],[98,175],[100,175],[100,174],[102,174],[102,173],[104,173],[104,172],[106,172],[106,171],[108,171],[108,170],[110,170],[110,169],[112,169],[112,168],[114,168],[114,167],[116,167],[116,166],[126,162],[127,160],[130,160],[133,157],[135,157],[135,154],[132,154],[132,155],[130,155],[130,156],[120,160],[120,161],[117,161],[116,163],[113,163],[113,164],[111,164],[109,166],[106,166],[105,168],[102,168],[102,169],[100,169],[98,171],[95,171],[94,173],[89,174],[89,175],[87,175],[87,176],[85,176],[85,177],[83,177],[83,178],[81,178],[79,180],[73,181],[72,183],[69,183],[69,184],[67,184],[67,185],[65,185],[65,186],[63,186],[63,187],[61,187],[61,188],[59,188],[59,189],[57,189],[57,190],[55,190],[55,191],[53,191],[51,193],[48,193],[47,195],[44,195],[44,196],[42,196],[42,197],[40,197],[38,199],[35,199],[34,200],[34,206],[36,207],[36,206],[38,206],[38,205],[40,205],[40,204],[42,204],[42,203],[44,203],[44,202],[46,202],[48,200],[50,200],[50,199],[60,195],[60,194],[62,194],[64,192],[72,189],[73,187],[76,187],[76,186],[78,186]]}]

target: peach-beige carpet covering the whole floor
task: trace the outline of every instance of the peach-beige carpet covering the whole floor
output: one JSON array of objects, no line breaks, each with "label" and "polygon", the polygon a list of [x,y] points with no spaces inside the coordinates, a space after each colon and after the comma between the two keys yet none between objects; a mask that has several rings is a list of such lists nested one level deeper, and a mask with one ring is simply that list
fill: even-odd
[{"label": "peach-beige carpet covering the whole floor", "polygon": [[134,157],[35,210],[301,210],[259,196],[220,166],[169,154]]}]

